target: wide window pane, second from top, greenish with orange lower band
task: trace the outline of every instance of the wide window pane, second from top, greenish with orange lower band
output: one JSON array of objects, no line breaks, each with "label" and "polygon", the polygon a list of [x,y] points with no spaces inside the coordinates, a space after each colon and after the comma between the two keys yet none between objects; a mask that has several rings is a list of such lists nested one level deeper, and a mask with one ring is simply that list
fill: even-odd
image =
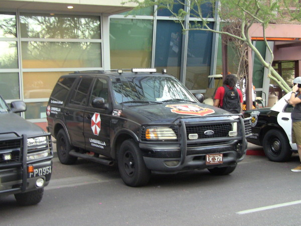
[{"label": "wide window pane, second from top, greenish with orange lower band", "polygon": [[24,68],[101,67],[101,44],[22,42]]}]

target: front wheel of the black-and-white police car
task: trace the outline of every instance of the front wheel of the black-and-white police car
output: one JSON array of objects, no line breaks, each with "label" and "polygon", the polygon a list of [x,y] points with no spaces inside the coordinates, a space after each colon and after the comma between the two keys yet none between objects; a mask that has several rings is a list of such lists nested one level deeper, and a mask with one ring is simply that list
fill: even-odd
[{"label": "front wheel of the black-and-white police car", "polygon": [[264,135],[262,143],[264,154],[270,161],[284,162],[291,156],[287,137],[280,130],[269,130]]}]

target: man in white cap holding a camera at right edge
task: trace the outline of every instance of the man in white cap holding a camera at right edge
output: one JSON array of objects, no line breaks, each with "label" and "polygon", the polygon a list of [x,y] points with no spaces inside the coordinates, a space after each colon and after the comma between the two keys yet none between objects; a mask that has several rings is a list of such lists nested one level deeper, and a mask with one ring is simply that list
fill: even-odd
[{"label": "man in white cap holding a camera at right edge", "polygon": [[291,142],[296,143],[300,165],[291,169],[292,172],[301,172],[301,77],[293,79],[292,92],[289,103],[293,105],[291,112]]}]

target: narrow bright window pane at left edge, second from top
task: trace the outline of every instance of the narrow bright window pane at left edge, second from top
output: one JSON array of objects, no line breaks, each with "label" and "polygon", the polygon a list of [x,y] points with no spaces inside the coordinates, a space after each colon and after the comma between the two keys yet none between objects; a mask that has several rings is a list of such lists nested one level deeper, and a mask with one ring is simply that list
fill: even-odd
[{"label": "narrow bright window pane at left edge, second from top", "polygon": [[18,68],[17,42],[0,41],[0,69]]}]

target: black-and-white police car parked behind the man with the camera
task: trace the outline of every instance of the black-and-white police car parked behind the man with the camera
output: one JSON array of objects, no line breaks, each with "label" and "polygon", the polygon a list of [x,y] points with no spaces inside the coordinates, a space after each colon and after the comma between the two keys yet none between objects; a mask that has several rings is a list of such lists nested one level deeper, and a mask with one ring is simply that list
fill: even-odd
[{"label": "black-and-white police car parked behind the man with the camera", "polygon": [[247,141],[262,146],[264,154],[274,162],[287,161],[297,150],[296,144],[291,143],[290,113],[293,106],[286,102],[290,94],[285,94],[272,107],[244,112],[245,117],[251,117],[253,133]]}]

